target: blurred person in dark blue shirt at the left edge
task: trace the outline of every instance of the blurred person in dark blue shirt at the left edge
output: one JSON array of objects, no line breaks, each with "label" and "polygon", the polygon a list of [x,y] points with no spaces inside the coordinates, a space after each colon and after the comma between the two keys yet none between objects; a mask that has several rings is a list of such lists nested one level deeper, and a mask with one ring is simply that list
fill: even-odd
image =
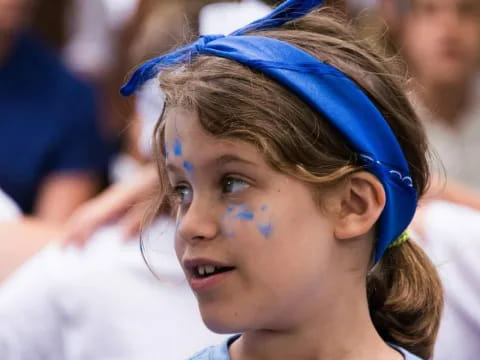
[{"label": "blurred person in dark blue shirt at the left edge", "polygon": [[96,193],[108,159],[93,89],[26,29],[31,2],[0,2],[0,188],[61,223]]}]

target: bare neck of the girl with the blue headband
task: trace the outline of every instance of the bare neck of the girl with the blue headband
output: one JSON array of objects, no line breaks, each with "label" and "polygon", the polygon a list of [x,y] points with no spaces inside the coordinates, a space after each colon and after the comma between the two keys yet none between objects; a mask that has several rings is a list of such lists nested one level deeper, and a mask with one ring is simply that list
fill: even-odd
[{"label": "bare neck of the girl with the blue headband", "polygon": [[335,297],[328,311],[323,309],[318,316],[310,314],[299,321],[301,326],[245,332],[230,347],[232,360],[402,359],[378,335],[370,319],[365,291],[359,290],[357,294],[348,291]]}]

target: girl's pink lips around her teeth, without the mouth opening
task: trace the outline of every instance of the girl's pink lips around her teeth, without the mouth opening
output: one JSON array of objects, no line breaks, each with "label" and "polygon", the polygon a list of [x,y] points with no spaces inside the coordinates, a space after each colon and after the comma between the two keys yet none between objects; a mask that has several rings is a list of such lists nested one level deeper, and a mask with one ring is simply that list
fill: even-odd
[{"label": "girl's pink lips around her teeth, without the mouth opening", "polygon": [[215,275],[210,275],[206,278],[200,278],[195,276],[195,268],[198,266],[212,265],[215,267],[233,267],[230,264],[223,263],[220,261],[208,259],[208,258],[195,258],[187,259],[182,261],[183,267],[186,270],[187,280],[190,284],[190,287],[195,292],[201,292],[206,290],[211,290],[214,287],[220,285],[232,272],[232,270],[218,273]]}]

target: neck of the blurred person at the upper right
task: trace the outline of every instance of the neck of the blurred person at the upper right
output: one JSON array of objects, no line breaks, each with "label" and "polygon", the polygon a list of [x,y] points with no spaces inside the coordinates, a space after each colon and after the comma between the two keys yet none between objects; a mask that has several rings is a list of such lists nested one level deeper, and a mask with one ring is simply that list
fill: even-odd
[{"label": "neck of the blurred person at the upper right", "polygon": [[439,121],[451,127],[458,125],[460,116],[468,108],[472,88],[472,80],[438,84],[420,79],[415,84],[415,91],[426,108]]}]

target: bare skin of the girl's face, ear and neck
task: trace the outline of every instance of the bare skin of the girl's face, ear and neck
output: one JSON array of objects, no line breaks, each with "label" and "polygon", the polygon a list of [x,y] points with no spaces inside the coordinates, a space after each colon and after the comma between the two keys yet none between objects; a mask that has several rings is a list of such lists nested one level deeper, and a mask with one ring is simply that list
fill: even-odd
[{"label": "bare skin of the girl's face, ear and neck", "polygon": [[[353,175],[320,207],[306,184],[271,169],[249,143],[211,137],[195,113],[170,109],[165,140],[180,262],[235,267],[196,292],[210,329],[243,333],[230,347],[233,360],[402,358],[368,313],[372,229],[385,204],[374,176]],[[268,236],[257,220],[268,220]]]}]

